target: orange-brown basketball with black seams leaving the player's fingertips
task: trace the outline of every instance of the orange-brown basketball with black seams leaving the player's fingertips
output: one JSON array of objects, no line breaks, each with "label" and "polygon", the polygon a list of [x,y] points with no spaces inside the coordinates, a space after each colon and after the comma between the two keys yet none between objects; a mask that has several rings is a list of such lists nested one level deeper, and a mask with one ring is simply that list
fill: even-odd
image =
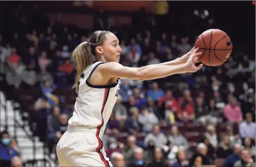
[{"label": "orange-brown basketball with black seams leaving the player's fingertips", "polygon": [[230,37],[220,29],[208,29],[195,41],[198,52],[202,52],[199,60],[209,66],[217,66],[227,61],[231,55],[233,44]]}]

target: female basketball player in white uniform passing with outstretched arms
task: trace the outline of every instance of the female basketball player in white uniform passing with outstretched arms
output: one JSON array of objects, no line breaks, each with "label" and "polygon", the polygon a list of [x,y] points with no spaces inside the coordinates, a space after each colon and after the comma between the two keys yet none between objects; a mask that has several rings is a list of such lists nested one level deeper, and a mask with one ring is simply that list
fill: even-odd
[{"label": "female basketball player in white uniform passing with outstretched arms", "polygon": [[88,43],[74,49],[77,101],[68,130],[56,147],[60,166],[112,166],[101,139],[118,96],[120,78],[156,79],[196,72],[203,66],[195,66],[201,53],[194,48],[176,60],[142,68],[119,64],[121,52],[117,37],[110,31],[96,31]]}]

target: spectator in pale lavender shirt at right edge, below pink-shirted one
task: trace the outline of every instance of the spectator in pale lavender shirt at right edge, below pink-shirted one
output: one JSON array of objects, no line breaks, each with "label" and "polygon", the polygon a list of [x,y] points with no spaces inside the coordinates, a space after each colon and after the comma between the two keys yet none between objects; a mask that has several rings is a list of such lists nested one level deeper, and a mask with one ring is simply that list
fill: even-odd
[{"label": "spectator in pale lavender shirt at right edge, below pink-shirted one", "polygon": [[239,124],[239,134],[242,139],[249,137],[255,141],[255,122],[250,112],[246,113],[246,121]]}]

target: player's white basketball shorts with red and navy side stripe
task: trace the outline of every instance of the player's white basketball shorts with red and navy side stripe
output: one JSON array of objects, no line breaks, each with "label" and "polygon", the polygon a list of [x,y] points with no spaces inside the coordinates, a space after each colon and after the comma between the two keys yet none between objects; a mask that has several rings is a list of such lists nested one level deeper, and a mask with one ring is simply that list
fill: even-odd
[{"label": "player's white basketball shorts with red and navy side stripe", "polygon": [[112,166],[102,144],[103,131],[68,126],[56,146],[60,166]]}]

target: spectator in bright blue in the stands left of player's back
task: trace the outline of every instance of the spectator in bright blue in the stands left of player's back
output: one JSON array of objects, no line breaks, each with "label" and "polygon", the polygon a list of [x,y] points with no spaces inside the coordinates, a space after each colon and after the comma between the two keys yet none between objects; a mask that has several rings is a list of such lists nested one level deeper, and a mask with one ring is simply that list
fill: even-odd
[{"label": "spectator in bright blue in the stands left of player's back", "polygon": [[46,80],[41,84],[41,90],[45,97],[47,97],[48,102],[51,106],[56,106],[59,104],[59,99],[56,95],[52,94],[55,86],[51,84],[50,80]]}]

